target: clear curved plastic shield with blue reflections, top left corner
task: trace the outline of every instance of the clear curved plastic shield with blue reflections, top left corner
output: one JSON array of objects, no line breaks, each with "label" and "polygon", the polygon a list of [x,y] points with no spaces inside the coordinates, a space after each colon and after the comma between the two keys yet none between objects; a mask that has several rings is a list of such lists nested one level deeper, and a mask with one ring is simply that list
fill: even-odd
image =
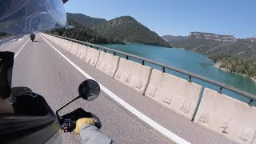
[{"label": "clear curved plastic shield with blue reflections, top left corner", "polygon": [[0,0],[0,44],[66,26],[62,0]]}]

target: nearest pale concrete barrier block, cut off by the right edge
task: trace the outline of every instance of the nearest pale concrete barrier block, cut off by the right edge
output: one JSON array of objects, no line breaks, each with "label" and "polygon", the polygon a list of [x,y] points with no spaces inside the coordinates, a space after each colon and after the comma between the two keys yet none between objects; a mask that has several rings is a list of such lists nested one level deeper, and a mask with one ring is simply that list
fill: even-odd
[{"label": "nearest pale concrete barrier block, cut off by the right edge", "polygon": [[194,122],[239,143],[255,143],[256,108],[205,88]]}]

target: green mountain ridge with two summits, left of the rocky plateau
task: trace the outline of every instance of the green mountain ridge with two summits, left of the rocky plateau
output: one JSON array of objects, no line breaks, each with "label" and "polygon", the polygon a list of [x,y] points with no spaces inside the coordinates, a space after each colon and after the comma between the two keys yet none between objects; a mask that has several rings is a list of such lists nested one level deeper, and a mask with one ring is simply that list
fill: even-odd
[{"label": "green mountain ridge with two summits, left of the rocky plateau", "polygon": [[139,42],[142,44],[171,47],[162,37],[143,26],[131,16],[121,16],[106,21],[104,18],[91,18],[85,14],[67,13],[67,18],[73,19],[82,26],[90,27],[95,33],[117,42]]}]

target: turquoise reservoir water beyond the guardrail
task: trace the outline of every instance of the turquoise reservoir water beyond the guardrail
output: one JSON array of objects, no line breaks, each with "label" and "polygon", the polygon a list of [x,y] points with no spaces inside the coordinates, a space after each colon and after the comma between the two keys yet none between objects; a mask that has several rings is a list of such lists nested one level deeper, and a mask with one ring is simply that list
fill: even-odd
[{"label": "turquoise reservoir water beyond the guardrail", "polygon": [[[233,74],[220,70],[214,67],[214,62],[206,58],[205,55],[196,54],[192,51],[178,49],[178,48],[165,48],[159,46],[148,46],[142,44],[128,43],[126,45],[104,45],[106,47],[113,48],[115,50],[120,50],[129,54],[135,54],[143,58],[148,58],[154,60],[155,62],[162,62],[169,66],[174,66],[182,70],[190,71],[194,74],[200,74],[206,78],[213,79],[218,82],[223,82],[230,86],[234,86],[240,90],[244,90],[250,94],[256,95],[256,82],[251,78],[244,77],[239,74]],[[122,55],[120,55],[122,56]],[[123,57],[123,56],[122,56]],[[131,58],[136,62],[140,62],[134,58]],[[149,63],[146,65],[154,67],[156,69],[162,70],[161,67],[153,66]],[[182,78],[188,78],[186,75],[178,74],[171,70],[166,70],[166,72],[178,75]],[[210,87],[211,89],[218,90],[217,86],[213,86],[209,83],[198,81],[193,79],[192,81],[199,83],[203,86]],[[234,94],[230,91],[223,90],[224,94],[229,94],[234,98],[238,98],[244,102],[248,102],[249,99],[242,98],[238,94]]]}]

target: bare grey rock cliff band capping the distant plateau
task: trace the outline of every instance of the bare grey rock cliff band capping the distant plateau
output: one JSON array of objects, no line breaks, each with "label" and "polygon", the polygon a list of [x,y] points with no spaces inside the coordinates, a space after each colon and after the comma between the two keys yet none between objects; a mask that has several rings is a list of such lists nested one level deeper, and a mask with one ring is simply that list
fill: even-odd
[{"label": "bare grey rock cliff band capping the distant plateau", "polygon": [[191,32],[188,38],[204,38],[208,40],[214,40],[218,42],[236,42],[237,39],[234,35],[222,35],[222,34],[211,34],[202,32]]}]

